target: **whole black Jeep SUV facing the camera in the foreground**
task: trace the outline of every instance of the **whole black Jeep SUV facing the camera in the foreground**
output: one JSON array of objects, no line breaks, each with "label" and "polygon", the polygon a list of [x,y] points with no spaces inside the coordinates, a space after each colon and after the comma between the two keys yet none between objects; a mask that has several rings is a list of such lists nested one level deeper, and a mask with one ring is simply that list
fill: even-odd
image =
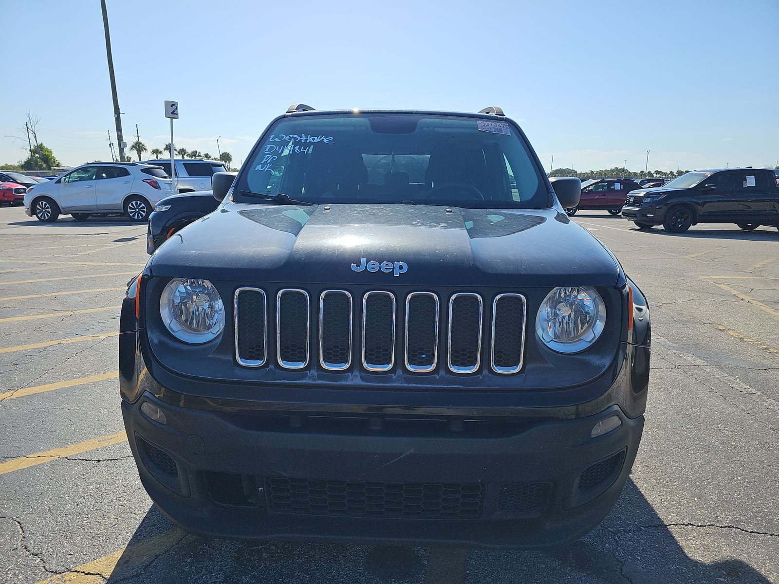
[{"label": "whole black Jeep SUV facing the camera in the foreground", "polygon": [[[184,529],[542,547],[611,511],[643,430],[647,301],[516,123],[273,120],[122,305],[122,414]],[[553,185],[554,189],[553,190]]]}]

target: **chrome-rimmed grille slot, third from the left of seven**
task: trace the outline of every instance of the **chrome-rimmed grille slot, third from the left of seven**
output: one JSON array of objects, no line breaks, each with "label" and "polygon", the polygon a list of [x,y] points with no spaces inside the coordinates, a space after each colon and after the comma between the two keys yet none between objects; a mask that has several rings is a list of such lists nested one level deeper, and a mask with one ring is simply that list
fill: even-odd
[{"label": "chrome-rimmed grille slot, third from the left of seven", "polygon": [[346,290],[319,296],[319,364],[330,371],[351,365],[352,301]]}]

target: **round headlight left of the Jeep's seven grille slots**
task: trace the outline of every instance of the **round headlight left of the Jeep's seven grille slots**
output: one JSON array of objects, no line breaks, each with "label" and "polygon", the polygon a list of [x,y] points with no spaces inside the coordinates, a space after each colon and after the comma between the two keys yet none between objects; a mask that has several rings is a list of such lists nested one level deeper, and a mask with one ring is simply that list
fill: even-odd
[{"label": "round headlight left of the Jeep's seven grille slots", "polygon": [[224,329],[224,304],[208,280],[171,280],[160,297],[160,315],[185,343],[206,343]]}]

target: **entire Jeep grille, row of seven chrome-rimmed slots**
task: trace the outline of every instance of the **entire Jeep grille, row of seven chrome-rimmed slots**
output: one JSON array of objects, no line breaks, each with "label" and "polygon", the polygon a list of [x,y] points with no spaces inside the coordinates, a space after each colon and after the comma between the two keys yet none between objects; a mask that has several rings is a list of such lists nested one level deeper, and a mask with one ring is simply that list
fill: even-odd
[{"label": "entire Jeep grille, row of seven chrome-rimmed slots", "polygon": [[[270,294],[273,298],[273,291]],[[235,291],[238,364],[266,365],[268,329],[275,328],[276,361],[285,369],[308,367],[312,342],[319,347],[313,349],[315,362],[318,356],[319,368],[326,371],[344,371],[356,361],[372,372],[399,366],[421,374],[444,367],[468,375],[482,369],[483,356],[494,373],[514,374],[523,367],[527,303],[522,294],[498,294],[485,304],[474,292],[452,294],[442,303],[437,294],[426,291],[411,292],[404,299],[387,290],[369,290],[355,301],[348,290],[323,290],[312,315],[307,291],[284,288],[275,304],[271,322],[265,291]],[[318,325],[313,335],[312,322]],[[270,351],[273,354],[273,347]]]}]

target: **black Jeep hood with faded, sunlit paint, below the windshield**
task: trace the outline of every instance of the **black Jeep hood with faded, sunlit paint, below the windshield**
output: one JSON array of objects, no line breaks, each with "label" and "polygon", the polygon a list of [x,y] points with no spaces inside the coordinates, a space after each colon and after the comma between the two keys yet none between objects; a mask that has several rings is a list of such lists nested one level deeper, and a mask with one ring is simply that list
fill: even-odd
[{"label": "black Jeep hood with faded, sunlit paint, below the windshield", "polygon": [[[615,286],[611,252],[556,209],[229,202],[178,231],[153,276],[241,283],[393,286]],[[354,271],[352,264],[404,262]],[[372,266],[375,267],[375,266]]]}]

